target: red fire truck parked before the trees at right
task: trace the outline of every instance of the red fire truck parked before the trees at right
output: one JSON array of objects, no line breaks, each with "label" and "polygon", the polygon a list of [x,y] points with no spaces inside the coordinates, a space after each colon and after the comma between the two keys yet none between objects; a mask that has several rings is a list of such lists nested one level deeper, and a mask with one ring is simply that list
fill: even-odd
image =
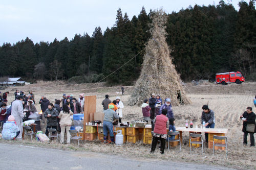
[{"label": "red fire truck parked before the trees at right", "polygon": [[237,83],[241,84],[244,82],[245,79],[242,76],[241,72],[223,72],[216,74],[216,81],[215,83],[221,84],[221,85],[226,85],[228,83]]}]

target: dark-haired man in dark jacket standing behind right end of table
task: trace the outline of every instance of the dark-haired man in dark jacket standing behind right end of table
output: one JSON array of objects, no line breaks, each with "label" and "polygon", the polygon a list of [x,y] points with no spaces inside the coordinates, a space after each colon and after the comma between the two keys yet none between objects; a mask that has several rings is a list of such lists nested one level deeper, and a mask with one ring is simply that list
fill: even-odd
[{"label": "dark-haired man in dark jacket standing behind right end of table", "polygon": [[[214,128],[215,127],[215,117],[214,111],[210,110],[207,105],[203,105],[202,107],[202,116],[201,123],[205,122],[205,128]],[[208,133],[204,133],[205,141],[208,143]]]}]

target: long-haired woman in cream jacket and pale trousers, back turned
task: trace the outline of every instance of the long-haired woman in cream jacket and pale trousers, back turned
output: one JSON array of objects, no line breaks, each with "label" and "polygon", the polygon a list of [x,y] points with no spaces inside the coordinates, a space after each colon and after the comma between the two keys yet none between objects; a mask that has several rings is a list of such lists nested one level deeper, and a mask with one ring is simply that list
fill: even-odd
[{"label": "long-haired woman in cream jacket and pale trousers, back turned", "polygon": [[62,110],[59,113],[59,118],[60,118],[60,143],[64,142],[64,135],[65,135],[65,130],[67,133],[67,143],[70,143],[70,127],[72,125],[72,120],[70,116],[73,115],[73,112],[69,110],[69,107],[67,105],[63,105]]}]

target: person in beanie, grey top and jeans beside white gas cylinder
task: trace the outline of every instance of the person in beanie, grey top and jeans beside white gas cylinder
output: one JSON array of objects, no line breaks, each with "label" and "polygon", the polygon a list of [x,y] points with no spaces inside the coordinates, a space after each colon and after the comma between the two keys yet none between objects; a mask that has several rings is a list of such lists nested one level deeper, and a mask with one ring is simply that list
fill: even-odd
[{"label": "person in beanie, grey top and jeans beside white gas cylinder", "polygon": [[114,144],[113,121],[114,119],[118,120],[119,115],[114,111],[113,105],[109,105],[109,109],[104,110],[103,112],[104,112],[104,119],[103,119],[104,143],[106,143],[106,136],[108,136],[108,131],[109,131],[111,143]]}]

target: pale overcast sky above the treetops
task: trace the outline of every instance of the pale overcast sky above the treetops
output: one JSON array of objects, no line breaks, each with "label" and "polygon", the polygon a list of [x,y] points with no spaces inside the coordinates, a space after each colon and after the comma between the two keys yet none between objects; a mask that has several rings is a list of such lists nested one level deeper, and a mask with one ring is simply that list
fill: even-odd
[{"label": "pale overcast sky above the treetops", "polygon": [[[239,0],[227,1],[239,10]],[[247,3],[249,0],[246,1]],[[200,6],[219,4],[214,0],[129,0],[129,1],[57,1],[57,0],[25,0],[0,2],[0,45],[4,42],[16,43],[29,37],[34,43],[40,41],[52,42],[54,38],[61,40],[74,35],[93,34],[95,27],[100,26],[102,32],[115,24],[116,12],[121,8],[122,13],[131,19],[138,16],[142,6],[148,13],[150,9],[163,7],[166,13],[178,12],[189,5]]]}]

